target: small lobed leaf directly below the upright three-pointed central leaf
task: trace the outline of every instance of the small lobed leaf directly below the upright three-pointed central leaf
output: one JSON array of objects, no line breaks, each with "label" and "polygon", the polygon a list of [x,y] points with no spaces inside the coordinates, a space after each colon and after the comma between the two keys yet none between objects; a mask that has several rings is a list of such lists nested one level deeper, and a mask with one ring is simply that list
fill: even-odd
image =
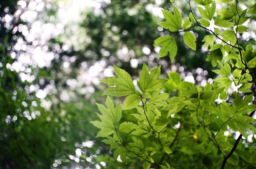
[{"label": "small lobed leaf directly below the upright three-pointed central leaf", "polygon": [[152,96],[149,100],[150,103],[155,104],[156,106],[169,106],[165,101],[169,97],[169,93],[159,94],[159,90],[156,90],[152,93]]}]

